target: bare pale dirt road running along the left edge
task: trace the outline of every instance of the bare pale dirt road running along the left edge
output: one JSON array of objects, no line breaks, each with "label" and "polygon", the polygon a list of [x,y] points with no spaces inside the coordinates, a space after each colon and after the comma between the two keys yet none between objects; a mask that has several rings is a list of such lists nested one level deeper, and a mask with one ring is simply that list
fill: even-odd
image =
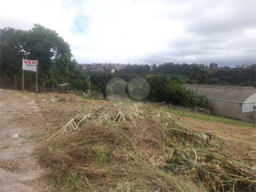
[{"label": "bare pale dirt road running along the left edge", "polygon": [[0,89],[0,192],[47,191],[42,182],[46,170],[32,155],[40,143],[37,123],[42,121],[34,100]]}]

